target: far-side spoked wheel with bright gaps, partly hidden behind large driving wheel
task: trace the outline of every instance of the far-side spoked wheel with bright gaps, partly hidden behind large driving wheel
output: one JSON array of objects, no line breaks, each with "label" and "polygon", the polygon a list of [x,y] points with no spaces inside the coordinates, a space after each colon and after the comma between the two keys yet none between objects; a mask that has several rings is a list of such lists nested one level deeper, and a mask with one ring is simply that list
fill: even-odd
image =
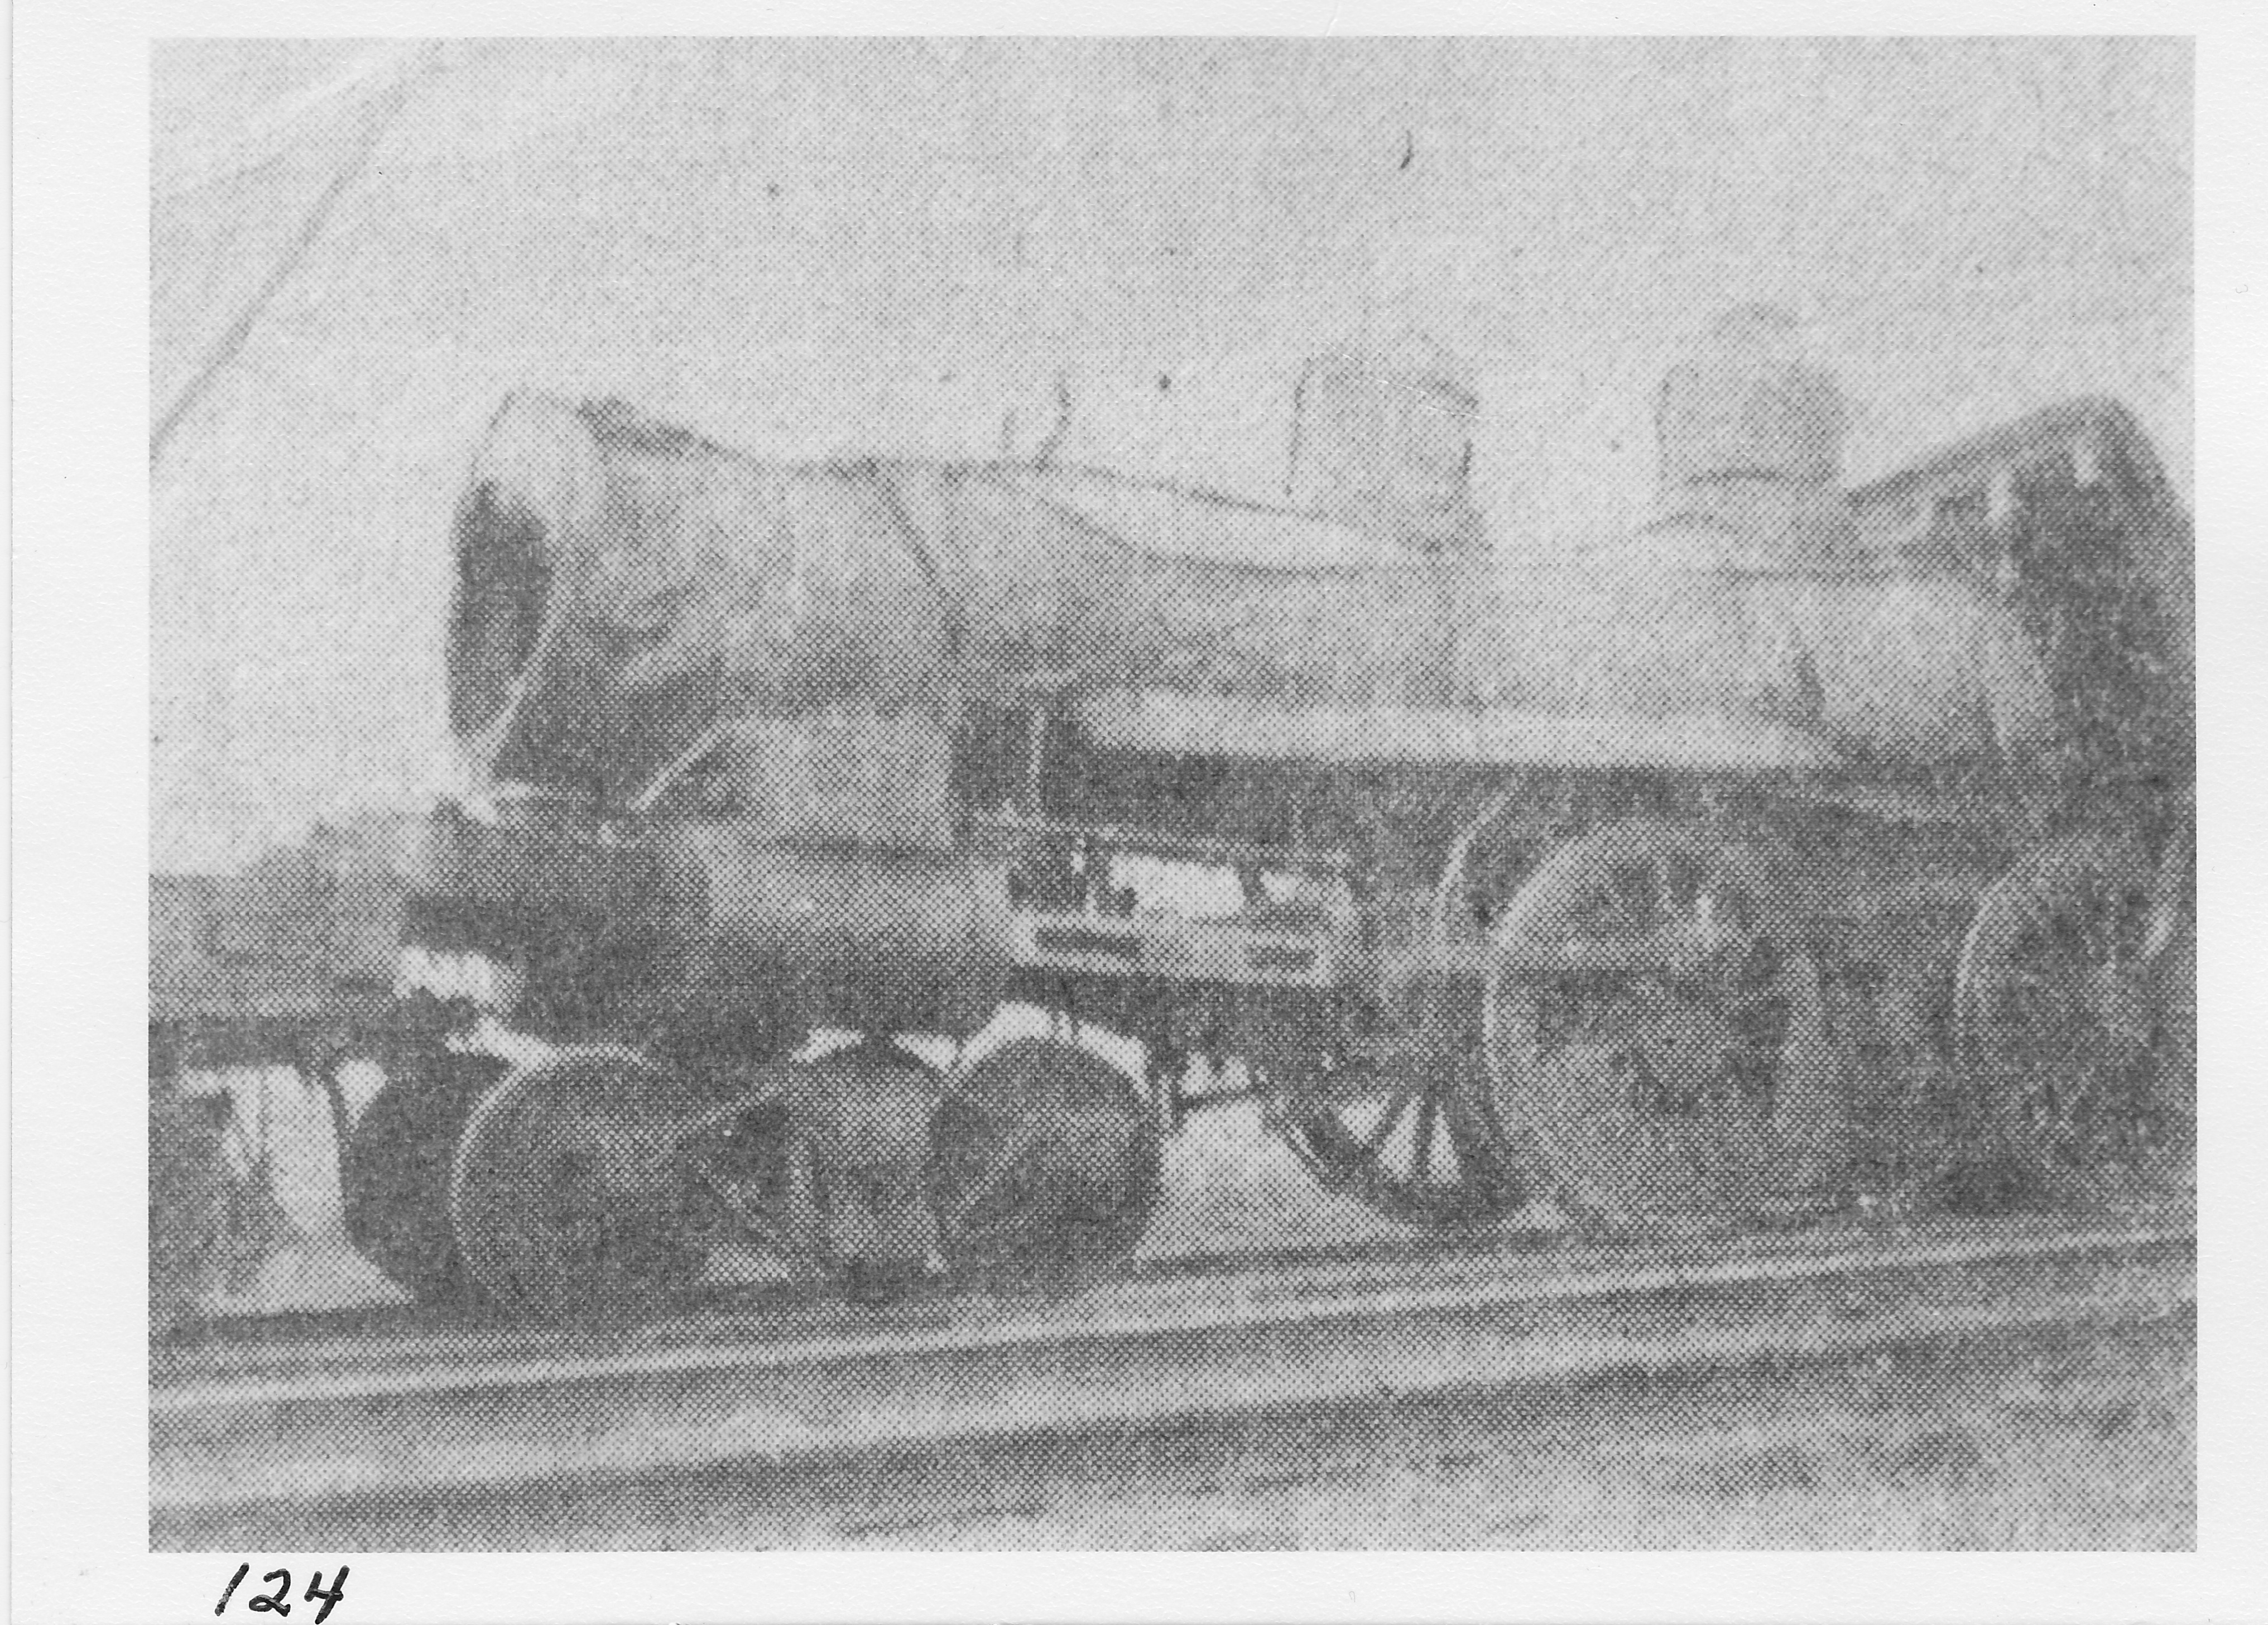
[{"label": "far-side spoked wheel with bright gaps, partly hidden behind large driving wheel", "polygon": [[1472,1115],[1472,1040],[1420,1015],[1379,1056],[1340,1056],[1275,1101],[1293,1154],[1325,1190],[1354,1197],[1399,1224],[1474,1228],[1522,1201],[1510,1165]]}]

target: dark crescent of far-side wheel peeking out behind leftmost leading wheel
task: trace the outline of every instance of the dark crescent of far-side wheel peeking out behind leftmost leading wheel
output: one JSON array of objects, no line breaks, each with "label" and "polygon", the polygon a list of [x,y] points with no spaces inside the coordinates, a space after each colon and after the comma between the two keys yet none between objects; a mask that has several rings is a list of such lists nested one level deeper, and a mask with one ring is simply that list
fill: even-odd
[{"label": "dark crescent of far-side wheel peeking out behind leftmost leading wheel", "polygon": [[447,1049],[397,1061],[340,1149],[347,1240],[420,1303],[472,1296],[449,1228],[449,1167],[474,1106],[506,1070],[494,1056]]}]

